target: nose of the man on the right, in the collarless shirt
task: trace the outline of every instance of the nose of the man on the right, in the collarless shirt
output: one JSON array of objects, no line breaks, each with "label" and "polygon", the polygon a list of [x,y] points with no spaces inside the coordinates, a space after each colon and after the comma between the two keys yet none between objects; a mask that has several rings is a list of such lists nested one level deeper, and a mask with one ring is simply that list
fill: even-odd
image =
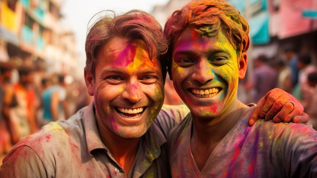
[{"label": "nose of the man on the right, in the collarless shirt", "polygon": [[192,79],[195,81],[205,84],[215,78],[212,66],[207,59],[198,60],[195,65],[195,71],[192,74]]}]

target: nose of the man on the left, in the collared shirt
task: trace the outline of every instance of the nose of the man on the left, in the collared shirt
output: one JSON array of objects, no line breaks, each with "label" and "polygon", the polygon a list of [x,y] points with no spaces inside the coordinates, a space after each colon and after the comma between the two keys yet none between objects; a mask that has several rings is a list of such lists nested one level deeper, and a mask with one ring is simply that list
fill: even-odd
[{"label": "nose of the man on the left, in the collared shirt", "polygon": [[124,99],[130,100],[132,103],[137,103],[141,98],[142,90],[141,86],[136,79],[132,79],[130,82],[127,83],[124,91],[122,93],[122,97]]}]

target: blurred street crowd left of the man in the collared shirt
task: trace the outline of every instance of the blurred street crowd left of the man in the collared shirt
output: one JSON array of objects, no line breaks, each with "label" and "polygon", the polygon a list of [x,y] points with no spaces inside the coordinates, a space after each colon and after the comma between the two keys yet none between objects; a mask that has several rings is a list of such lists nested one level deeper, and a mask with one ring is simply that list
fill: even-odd
[{"label": "blurred street crowd left of the man in the collared shirt", "polygon": [[92,97],[83,81],[51,74],[39,77],[31,66],[0,63],[0,155],[43,125],[68,119]]}]

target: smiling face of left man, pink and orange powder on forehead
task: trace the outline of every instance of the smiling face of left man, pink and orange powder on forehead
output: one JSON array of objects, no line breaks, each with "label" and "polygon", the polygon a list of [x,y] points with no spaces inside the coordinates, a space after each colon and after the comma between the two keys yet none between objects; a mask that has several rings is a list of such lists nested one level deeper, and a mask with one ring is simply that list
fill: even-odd
[{"label": "smiling face of left man, pink and orange powder on forehead", "polygon": [[142,41],[118,37],[98,50],[97,59],[95,78],[85,70],[85,80],[99,129],[125,138],[142,136],[164,101],[160,61],[149,59]]}]

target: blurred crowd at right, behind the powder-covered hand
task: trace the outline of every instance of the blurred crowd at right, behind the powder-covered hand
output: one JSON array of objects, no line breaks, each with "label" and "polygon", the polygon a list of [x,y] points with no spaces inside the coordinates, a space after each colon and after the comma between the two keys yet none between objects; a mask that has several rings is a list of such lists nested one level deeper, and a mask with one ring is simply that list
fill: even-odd
[{"label": "blurred crowd at right, behind the powder-covered hand", "polygon": [[278,87],[295,96],[317,129],[317,65],[310,53],[286,45],[281,58],[260,54],[253,59],[252,80],[240,82],[238,97],[256,103],[269,90]]}]

